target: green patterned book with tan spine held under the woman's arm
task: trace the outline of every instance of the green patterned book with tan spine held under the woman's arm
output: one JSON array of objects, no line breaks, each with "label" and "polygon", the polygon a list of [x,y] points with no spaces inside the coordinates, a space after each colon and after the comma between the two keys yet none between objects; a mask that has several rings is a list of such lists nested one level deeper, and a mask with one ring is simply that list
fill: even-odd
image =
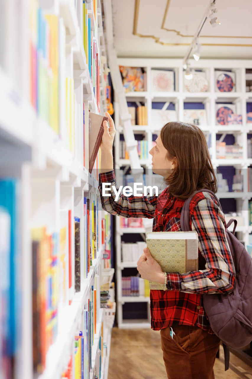
[{"label": "green patterned book with tan spine held under the woman's arm", "polygon": [[[147,247],[166,273],[198,270],[198,234],[196,232],[149,232]],[[160,283],[149,281],[151,290],[163,290]]]}]

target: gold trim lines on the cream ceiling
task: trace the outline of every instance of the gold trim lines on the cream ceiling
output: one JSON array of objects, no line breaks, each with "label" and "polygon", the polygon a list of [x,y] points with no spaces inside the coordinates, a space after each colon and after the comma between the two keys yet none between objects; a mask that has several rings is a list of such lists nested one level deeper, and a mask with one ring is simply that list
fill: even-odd
[{"label": "gold trim lines on the cream ceiling", "polygon": [[[166,29],[163,27],[164,23],[165,23],[165,18],[167,16],[167,13],[168,13],[168,9],[170,7],[170,2],[171,0],[168,0],[167,3],[166,3],[166,8],[165,8],[165,14],[164,14],[164,17],[163,17],[163,22],[162,22],[162,26],[161,28],[166,30],[166,31],[174,31],[177,35],[181,36],[181,37],[194,37],[194,36],[190,36],[190,35],[184,35],[184,34],[181,34],[178,30],[175,30],[175,29]],[[139,6],[140,6],[140,0],[135,0],[135,9],[134,9],[134,24],[133,24],[133,34],[135,36],[138,36],[140,38],[152,38],[155,40],[156,43],[160,44],[160,45],[164,45],[164,46],[189,46],[190,44],[188,43],[166,43],[166,42],[162,42],[160,41],[160,37],[156,37],[154,36],[153,34],[151,35],[144,35],[144,34],[141,34],[141,33],[138,33],[137,32],[137,24],[138,24],[138,17],[139,17]],[[252,37],[237,37],[237,36],[201,36],[201,37],[212,37],[212,38],[252,38]],[[206,44],[206,43],[202,43],[201,44],[202,46],[240,46],[240,47],[252,47],[252,44]]]}]

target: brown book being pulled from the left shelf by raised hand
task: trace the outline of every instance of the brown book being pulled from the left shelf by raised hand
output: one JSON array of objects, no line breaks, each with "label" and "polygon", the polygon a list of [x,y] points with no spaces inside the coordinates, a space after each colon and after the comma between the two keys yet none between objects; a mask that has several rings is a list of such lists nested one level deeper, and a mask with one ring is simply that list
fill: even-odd
[{"label": "brown book being pulled from the left shelf by raised hand", "polygon": [[91,174],[95,159],[101,144],[104,128],[103,121],[109,121],[108,117],[89,112],[89,172]]}]

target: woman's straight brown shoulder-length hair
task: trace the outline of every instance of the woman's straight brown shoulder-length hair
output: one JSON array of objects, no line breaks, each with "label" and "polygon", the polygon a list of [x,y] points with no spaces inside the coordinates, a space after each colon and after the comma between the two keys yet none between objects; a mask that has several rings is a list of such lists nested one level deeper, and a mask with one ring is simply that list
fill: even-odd
[{"label": "woman's straight brown shoulder-length hair", "polygon": [[202,130],[185,122],[168,122],[160,132],[167,158],[177,158],[177,166],[165,180],[169,193],[187,199],[201,188],[217,192],[216,176]]}]

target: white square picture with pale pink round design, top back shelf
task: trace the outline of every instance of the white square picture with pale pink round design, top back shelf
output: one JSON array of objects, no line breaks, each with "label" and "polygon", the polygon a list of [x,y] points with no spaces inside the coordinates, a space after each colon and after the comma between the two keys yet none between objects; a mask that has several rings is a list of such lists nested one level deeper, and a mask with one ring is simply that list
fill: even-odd
[{"label": "white square picture with pale pink round design, top back shelf", "polygon": [[151,90],[154,92],[174,92],[174,72],[151,70]]}]

